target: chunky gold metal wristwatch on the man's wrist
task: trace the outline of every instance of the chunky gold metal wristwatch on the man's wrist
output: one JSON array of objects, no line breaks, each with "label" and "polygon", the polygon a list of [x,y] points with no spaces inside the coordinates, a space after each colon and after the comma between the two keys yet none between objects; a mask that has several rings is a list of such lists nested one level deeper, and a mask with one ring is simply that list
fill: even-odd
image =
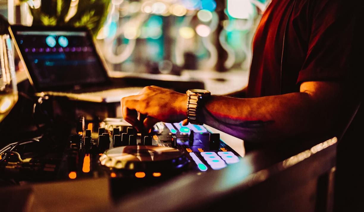
[{"label": "chunky gold metal wristwatch on the man's wrist", "polygon": [[197,110],[204,104],[204,102],[211,96],[210,91],[202,89],[191,89],[187,92],[187,119],[191,124],[202,125],[197,120]]}]

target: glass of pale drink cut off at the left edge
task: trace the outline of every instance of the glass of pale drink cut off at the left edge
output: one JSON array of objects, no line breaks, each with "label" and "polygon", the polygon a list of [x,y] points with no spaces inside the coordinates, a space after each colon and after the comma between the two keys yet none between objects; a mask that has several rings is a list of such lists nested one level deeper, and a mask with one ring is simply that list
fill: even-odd
[{"label": "glass of pale drink cut off at the left edge", "polygon": [[16,101],[15,65],[9,35],[0,35],[0,122],[8,115]]}]

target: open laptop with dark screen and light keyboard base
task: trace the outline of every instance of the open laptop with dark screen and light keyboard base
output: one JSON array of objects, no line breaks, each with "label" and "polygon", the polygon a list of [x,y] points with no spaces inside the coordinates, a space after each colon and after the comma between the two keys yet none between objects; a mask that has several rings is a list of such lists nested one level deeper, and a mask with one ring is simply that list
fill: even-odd
[{"label": "open laptop with dark screen and light keyboard base", "polygon": [[9,33],[36,95],[112,103],[142,89],[111,82],[87,28],[11,25]]}]

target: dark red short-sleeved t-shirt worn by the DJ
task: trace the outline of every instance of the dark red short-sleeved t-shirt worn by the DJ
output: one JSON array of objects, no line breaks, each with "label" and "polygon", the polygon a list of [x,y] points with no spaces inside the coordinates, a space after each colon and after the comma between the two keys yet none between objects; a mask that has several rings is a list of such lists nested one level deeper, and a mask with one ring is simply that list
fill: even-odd
[{"label": "dark red short-sleeved t-shirt worn by the DJ", "polygon": [[[253,40],[247,97],[281,93],[281,55],[285,25],[282,93],[299,92],[303,81],[345,80],[358,67],[353,54],[362,20],[361,1],[272,0]],[[294,4],[292,15],[289,17]],[[361,4],[362,5],[362,4]],[[354,65],[355,64],[355,65]]]}]

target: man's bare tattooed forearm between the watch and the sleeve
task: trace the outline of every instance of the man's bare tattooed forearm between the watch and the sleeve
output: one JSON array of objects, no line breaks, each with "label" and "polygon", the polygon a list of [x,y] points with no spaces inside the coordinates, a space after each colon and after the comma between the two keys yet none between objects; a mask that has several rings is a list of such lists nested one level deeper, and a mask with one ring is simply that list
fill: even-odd
[{"label": "man's bare tattooed forearm between the watch and the sleeve", "polygon": [[328,131],[336,110],[331,103],[331,98],[314,98],[306,92],[248,99],[212,96],[198,119],[243,140],[268,141]]}]

